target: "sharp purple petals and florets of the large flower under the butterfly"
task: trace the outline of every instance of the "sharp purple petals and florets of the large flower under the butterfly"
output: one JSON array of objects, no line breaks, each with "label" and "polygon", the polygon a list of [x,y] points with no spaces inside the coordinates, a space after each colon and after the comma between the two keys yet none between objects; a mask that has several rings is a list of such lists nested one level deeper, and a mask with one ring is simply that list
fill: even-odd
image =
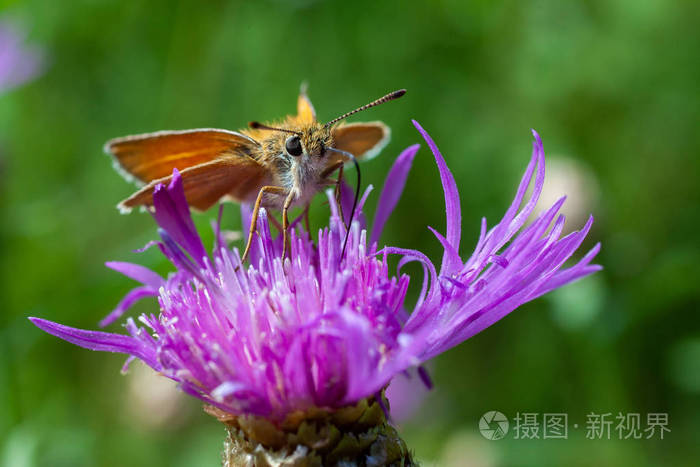
[{"label": "sharp purple petals and florets of the large flower under the butterfly", "polygon": [[[599,245],[563,268],[592,223],[590,218],[582,230],[560,238],[564,218],[557,211],[564,199],[524,227],[544,181],[544,151],[534,132],[532,158],[513,203],[491,229],[482,220],[477,245],[463,260],[457,185],[433,140],[414,124],[435,156],[445,193],[446,234],[431,229],[444,250],[439,268],[417,250],[377,249],[418,145],[394,163],[370,233],[363,216],[353,223],[344,258],[345,227],[330,195],[329,225],[316,242],[300,223],[293,225],[291,260],[280,259],[281,239],[271,234],[264,211],[250,266],[239,267],[239,253],[225,245],[219,223],[208,255],[176,172],[172,183],[154,194],[161,236],[154,244],[176,271],[164,279],[136,264],[108,263],[142,285],[102,324],[145,296],[158,297],[160,313],[141,315],[139,324],[128,318],[127,335],[30,319],[82,347],[139,358],[228,413],[279,420],[292,411],[336,408],[375,395],[397,374],[463,342],[519,305],[600,269],[589,264]],[[525,200],[533,175],[532,195]],[[244,224],[250,222],[247,208],[243,218]],[[395,274],[389,255],[400,256]],[[421,263],[424,277],[408,313],[409,277],[401,268],[411,261]]]}]

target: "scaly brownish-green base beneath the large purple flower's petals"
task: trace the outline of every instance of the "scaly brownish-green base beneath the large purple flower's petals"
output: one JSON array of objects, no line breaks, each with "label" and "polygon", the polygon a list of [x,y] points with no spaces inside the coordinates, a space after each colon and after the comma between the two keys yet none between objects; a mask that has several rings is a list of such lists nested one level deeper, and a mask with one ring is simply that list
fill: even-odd
[{"label": "scaly brownish-green base beneath the large purple flower's petals", "polygon": [[279,424],[206,410],[226,425],[224,467],[417,465],[374,398],[338,410],[294,412]]}]

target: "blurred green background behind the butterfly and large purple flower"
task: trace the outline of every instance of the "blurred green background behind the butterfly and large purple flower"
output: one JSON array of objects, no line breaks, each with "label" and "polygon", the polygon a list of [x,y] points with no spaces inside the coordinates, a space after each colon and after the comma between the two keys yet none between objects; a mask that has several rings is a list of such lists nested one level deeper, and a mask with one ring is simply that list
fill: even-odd
[{"label": "blurred green background behind the butterfly and large purple flower", "polygon": [[[381,186],[398,152],[420,141],[410,124],[418,119],[459,184],[463,253],[480,217],[493,223],[510,203],[529,159],[530,128],[547,152],[545,197],[570,195],[567,228],[596,216],[584,247],[602,242],[604,271],[523,306],[433,362],[435,389],[401,422],[425,465],[699,458],[700,3],[0,5],[3,24],[30,54],[25,75],[0,88],[0,464],[219,464],[224,431],[198,401],[139,365],[121,375],[122,356],[59,341],[27,316],[96,328],[132,286],[104,261],[135,260],[132,250],[155,236],[149,216],[114,209],[132,187],[102,154],[107,139],[276,118],[294,110],[304,80],[321,119],[409,90],[355,119],[393,129],[363,177]],[[9,47],[3,37],[0,50]],[[7,56],[0,52],[0,64]],[[314,222],[326,209],[317,200]],[[225,214],[231,229],[236,212]],[[203,232],[213,215],[197,216]],[[423,145],[383,240],[437,258],[426,225],[444,228],[444,211]],[[169,270],[152,251],[138,260]],[[133,313],[155,306],[146,301]],[[477,423],[488,410],[511,422],[518,412],[568,413],[569,439],[511,433],[487,441]],[[589,440],[591,412],[643,420],[668,413],[671,432],[663,440]]]}]

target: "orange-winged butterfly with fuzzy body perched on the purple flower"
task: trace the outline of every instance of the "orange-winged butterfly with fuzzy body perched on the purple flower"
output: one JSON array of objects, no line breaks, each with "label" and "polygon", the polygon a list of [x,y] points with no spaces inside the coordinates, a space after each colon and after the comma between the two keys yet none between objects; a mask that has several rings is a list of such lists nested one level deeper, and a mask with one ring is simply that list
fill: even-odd
[{"label": "orange-winged butterfly with fuzzy body perched on the purple flower", "polygon": [[[105,152],[113,156],[115,167],[127,180],[141,186],[117,207],[124,213],[139,206],[151,207],[156,186],[168,184],[177,169],[185,197],[196,210],[204,211],[219,201],[253,204],[242,262],[250,252],[260,208],[282,211],[284,258],[289,210],[295,206],[308,208],[313,196],[328,186],[335,185],[336,194],[339,193],[343,168],[348,162],[358,169],[357,203],[357,160],[377,155],[389,141],[389,128],[382,122],[346,124],[343,120],[405,93],[405,89],[391,92],[320,123],[302,85],[297,114],[279,122],[250,122],[249,128],[239,131],[199,128],[112,139],[105,144]],[[338,176],[334,179],[331,176],[336,171]],[[354,210],[355,206],[350,222]]]}]

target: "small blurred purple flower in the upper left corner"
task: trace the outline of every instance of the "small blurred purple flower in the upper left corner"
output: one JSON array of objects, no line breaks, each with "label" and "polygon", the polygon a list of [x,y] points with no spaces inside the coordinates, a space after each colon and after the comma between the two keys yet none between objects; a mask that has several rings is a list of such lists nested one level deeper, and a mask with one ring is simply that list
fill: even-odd
[{"label": "small blurred purple flower in the upper left corner", "polygon": [[24,31],[0,20],[0,94],[31,80],[43,68],[43,53],[23,45],[24,39]]}]

